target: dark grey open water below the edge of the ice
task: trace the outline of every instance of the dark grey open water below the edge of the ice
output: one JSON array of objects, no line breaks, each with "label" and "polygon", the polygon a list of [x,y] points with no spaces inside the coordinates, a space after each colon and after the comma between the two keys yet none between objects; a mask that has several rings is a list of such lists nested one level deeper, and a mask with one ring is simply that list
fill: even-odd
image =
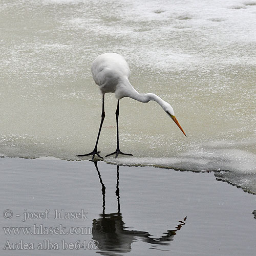
[{"label": "dark grey open water below the edge of the ice", "polygon": [[[1,214],[1,227],[57,228],[55,234],[1,229],[3,255],[254,255],[255,196],[212,173],[18,158],[2,158],[0,166],[1,211],[13,212],[10,219]],[[47,209],[48,218],[28,214]],[[62,209],[79,214],[54,219]],[[59,234],[59,225],[68,233]],[[34,249],[8,250],[6,241],[20,240]],[[44,240],[48,249],[39,250]]]}]

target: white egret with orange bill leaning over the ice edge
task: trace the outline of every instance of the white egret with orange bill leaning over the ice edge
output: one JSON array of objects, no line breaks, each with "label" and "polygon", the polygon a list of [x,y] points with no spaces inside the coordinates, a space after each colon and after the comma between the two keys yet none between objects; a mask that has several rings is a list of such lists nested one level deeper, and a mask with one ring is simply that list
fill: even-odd
[{"label": "white egret with orange bill leaning over the ice edge", "polygon": [[[92,63],[92,74],[93,79],[96,84],[98,84],[99,89],[102,93],[102,113],[101,113],[101,122],[99,126],[99,132],[96,140],[94,150],[91,153],[84,155],[77,155],[78,157],[90,156],[92,155],[92,160],[95,155],[102,158],[97,150],[97,145],[99,141],[99,136],[101,132],[102,123],[105,118],[104,111],[104,95],[105,93],[115,93],[117,98],[117,109],[116,109],[116,125],[117,125],[117,148],[116,151],[106,155],[106,157],[116,154],[116,157],[121,155],[132,156],[132,154],[125,154],[120,151],[119,148],[119,135],[118,135],[118,115],[119,115],[119,101],[123,97],[130,97],[132,99],[138,100],[140,102],[148,102],[150,100],[156,101],[163,110],[171,117],[174,122],[179,126],[180,130],[184,133],[182,127],[180,126],[178,120],[174,115],[174,110],[172,106],[162,100],[154,93],[138,93],[132,86],[129,81],[130,69],[125,61],[125,59],[117,53],[104,53],[99,55]],[[186,136],[186,134],[184,133]]]}]

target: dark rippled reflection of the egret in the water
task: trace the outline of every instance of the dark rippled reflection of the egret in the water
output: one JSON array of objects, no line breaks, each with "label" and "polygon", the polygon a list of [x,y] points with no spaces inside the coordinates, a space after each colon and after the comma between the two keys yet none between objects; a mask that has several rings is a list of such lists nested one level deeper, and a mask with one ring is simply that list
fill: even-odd
[{"label": "dark rippled reflection of the egret in the water", "polygon": [[152,235],[145,231],[127,230],[123,217],[120,211],[120,194],[119,194],[119,165],[117,165],[117,184],[116,196],[118,211],[112,214],[105,214],[105,185],[101,179],[97,162],[94,163],[99,181],[102,186],[102,214],[97,220],[93,220],[92,234],[95,241],[98,241],[98,249],[101,255],[120,255],[118,253],[126,253],[132,250],[133,242],[140,240],[152,245],[169,245],[170,241],[174,240],[176,232],[185,224],[185,217],[173,230],[163,232],[160,238],[151,238]]}]

